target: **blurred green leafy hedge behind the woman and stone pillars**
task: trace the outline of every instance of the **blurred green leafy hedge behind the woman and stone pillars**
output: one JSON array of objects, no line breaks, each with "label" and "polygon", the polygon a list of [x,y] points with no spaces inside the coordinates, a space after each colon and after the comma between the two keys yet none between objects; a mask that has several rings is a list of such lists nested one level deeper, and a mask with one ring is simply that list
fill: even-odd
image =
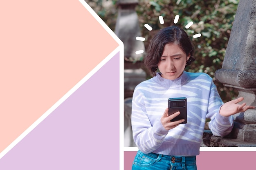
[{"label": "blurred green leafy hedge behind the woman and stone pillars", "polygon": [[[85,1],[110,29],[115,30],[117,0]],[[109,2],[112,2],[112,7],[104,7],[104,3],[110,4]],[[186,24],[193,21],[194,24],[185,31],[194,44],[196,60],[186,68],[186,71],[209,74],[213,77],[223,101],[234,99],[237,91],[217,82],[214,73],[222,67],[238,2],[239,0],[139,0],[135,10],[139,17],[142,36],[146,38],[145,48],[147,49],[150,39],[159,29],[174,25],[175,15],[180,15],[179,22],[175,25],[184,29]],[[164,24],[159,23],[160,15],[164,18]],[[146,23],[153,28],[153,31],[148,31],[144,27]],[[196,33],[201,33],[202,36],[193,38]]]}]

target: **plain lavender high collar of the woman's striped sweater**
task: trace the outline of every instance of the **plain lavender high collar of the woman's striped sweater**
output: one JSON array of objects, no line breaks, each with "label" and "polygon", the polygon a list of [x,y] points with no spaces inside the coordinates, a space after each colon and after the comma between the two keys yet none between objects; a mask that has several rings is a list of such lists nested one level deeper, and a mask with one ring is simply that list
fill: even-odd
[{"label": "plain lavender high collar of the woman's striped sweater", "polygon": [[161,75],[162,73],[157,72],[156,76],[153,77],[153,81],[167,88],[175,88],[182,86],[189,79],[189,73],[186,71],[183,71],[182,75],[174,80],[165,79]]}]

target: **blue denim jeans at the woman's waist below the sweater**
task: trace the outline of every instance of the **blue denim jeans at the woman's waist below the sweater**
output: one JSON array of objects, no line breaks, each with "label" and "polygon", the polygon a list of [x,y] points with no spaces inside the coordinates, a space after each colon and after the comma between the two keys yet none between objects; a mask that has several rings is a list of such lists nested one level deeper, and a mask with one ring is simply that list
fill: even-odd
[{"label": "blue denim jeans at the woman's waist below the sweater", "polygon": [[132,170],[197,170],[196,157],[176,157],[156,153],[137,152]]}]

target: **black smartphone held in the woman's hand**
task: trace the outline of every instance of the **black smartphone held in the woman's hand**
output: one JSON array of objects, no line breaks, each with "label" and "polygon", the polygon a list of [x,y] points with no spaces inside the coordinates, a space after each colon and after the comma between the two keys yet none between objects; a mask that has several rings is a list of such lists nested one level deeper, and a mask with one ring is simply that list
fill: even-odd
[{"label": "black smartphone held in the woman's hand", "polygon": [[180,111],[180,115],[177,115],[171,121],[177,121],[180,119],[185,119],[181,124],[187,123],[187,110],[186,110],[186,97],[178,97],[178,98],[169,98],[168,99],[168,114],[169,116],[177,111]]}]

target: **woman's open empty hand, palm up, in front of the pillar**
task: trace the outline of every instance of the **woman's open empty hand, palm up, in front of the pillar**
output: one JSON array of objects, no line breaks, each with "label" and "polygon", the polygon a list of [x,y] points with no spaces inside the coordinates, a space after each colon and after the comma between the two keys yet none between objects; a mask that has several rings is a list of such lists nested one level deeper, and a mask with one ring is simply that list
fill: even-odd
[{"label": "woman's open empty hand, palm up, in front of the pillar", "polygon": [[245,112],[248,109],[255,108],[255,106],[248,106],[246,103],[238,104],[239,102],[242,102],[243,99],[243,97],[239,97],[223,104],[220,108],[220,115],[229,117],[236,113]]}]

